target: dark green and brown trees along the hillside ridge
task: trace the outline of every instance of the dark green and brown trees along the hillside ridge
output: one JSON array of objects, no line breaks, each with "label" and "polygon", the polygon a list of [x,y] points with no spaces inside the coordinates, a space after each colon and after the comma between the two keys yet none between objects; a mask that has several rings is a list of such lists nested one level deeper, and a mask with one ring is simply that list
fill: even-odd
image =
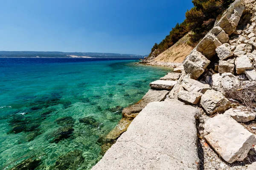
[{"label": "dark green and brown trees along the hillside ridge", "polygon": [[194,7],[186,12],[183,23],[177,23],[163,41],[155,43],[149,57],[156,49],[157,55],[167,50],[189,31],[192,31],[189,35],[190,44],[196,44],[214,26],[218,16],[233,2],[234,0],[192,0]]}]

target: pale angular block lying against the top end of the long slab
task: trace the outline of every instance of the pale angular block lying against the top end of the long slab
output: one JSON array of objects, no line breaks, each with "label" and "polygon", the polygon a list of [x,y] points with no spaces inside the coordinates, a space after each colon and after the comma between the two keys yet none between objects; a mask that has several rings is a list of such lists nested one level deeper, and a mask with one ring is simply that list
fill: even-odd
[{"label": "pale angular block lying against the top end of the long slab", "polygon": [[197,105],[202,95],[202,93],[198,92],[180,91],[178,94],[178,98],[193,105]]}]

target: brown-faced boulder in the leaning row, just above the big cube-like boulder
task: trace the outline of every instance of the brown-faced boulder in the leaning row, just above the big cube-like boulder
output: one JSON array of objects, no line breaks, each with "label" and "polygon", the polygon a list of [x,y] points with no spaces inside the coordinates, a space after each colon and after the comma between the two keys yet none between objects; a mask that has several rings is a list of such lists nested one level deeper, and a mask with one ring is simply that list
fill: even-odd
[{"label": "brown-faced boulder in the leaning row, just above the big cube-like boulder", "polygon": [[196,46],[196,50],[201,52],[207,59],[211,59],[214,54],[216,54],[215,49],[222,43],[218,38],[212,34],[208,33],[203,40],[201,40]]}]

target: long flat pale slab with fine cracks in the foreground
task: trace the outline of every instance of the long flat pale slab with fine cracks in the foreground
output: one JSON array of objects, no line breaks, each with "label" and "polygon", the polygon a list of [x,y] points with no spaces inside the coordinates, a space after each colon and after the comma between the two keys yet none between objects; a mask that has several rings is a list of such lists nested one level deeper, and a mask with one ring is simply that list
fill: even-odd
[{"label": "long flat pale slab with fine cracks in the foreground", "polygon": [[198,169],[198,113],[178,100],[149,103],[92,170]]}]

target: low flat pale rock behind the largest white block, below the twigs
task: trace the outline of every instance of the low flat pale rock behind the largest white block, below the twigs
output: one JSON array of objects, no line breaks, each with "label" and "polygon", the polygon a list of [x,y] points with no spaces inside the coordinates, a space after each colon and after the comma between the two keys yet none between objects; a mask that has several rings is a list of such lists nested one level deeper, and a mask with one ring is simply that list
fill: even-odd
[{"label": "low flat pale rock behind the largest white block, below the twigs", "polygon": [[238,106],[237,108],[231,108],[224,113],[231,116],[237,122],[249,122],[255,119],[255,113],[250,112],[244,106]]}]

